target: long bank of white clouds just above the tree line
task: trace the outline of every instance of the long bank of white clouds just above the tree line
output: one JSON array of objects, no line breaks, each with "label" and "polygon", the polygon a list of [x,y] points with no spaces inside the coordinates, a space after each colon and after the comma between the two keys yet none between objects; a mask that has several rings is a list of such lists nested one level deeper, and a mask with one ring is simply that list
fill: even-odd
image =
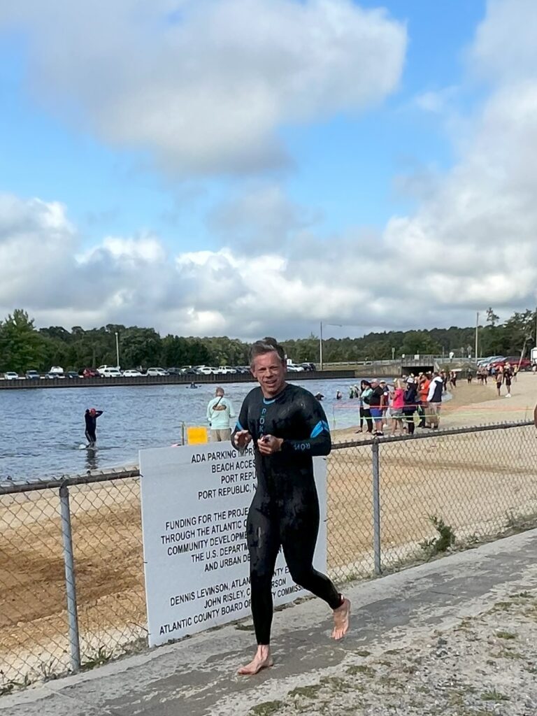
[{"label": "long bank of white clouds just above the tree line", "polygon": [[[513,15],[504,42],[524,45],[520,57],[537,52],[516,14],[520,3],[502,7]],[[491,8],[474,49],[488,37],[500,47],[506,10]],[[492,50],[468,57],[493,77]],[[24,307],[40,324],[289,337],[321,319],[389,329],[468,324],[487,306],[503,315],[534,306],[537,69],[513,73],[498,72],[473,111],[458,163],[435,175],[412,216],[393,217],[379,235],[349,228],[323,238],[316,217],[281,189],[254,185],[211,215],[226,248],[170,256],[157,236],[115,236],[80,256],[62,205],[0,196],[0,310]]]}]

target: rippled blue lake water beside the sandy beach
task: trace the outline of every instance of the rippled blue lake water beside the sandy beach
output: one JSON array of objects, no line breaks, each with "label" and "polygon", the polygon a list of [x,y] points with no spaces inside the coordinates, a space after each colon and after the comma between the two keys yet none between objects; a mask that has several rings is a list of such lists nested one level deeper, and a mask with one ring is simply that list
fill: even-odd
[{"label": "rippled blue lake water beside the sandy beach", "polygon": [[[358,422],[358,403],[348,400],[357,379],[294,380],[321,392],[331,427]],[[180,442],[181,424],[206,425],[207,403],[216,384],[44,388],[0,391],[0,480],[46,478],[137,463],[140,448]],[[253,383],[226,384],[236,412]],[[337,390],[343,400],[336,400]],[[85,443],[84,410],[104,410],[97,420],[98,449]]]}]

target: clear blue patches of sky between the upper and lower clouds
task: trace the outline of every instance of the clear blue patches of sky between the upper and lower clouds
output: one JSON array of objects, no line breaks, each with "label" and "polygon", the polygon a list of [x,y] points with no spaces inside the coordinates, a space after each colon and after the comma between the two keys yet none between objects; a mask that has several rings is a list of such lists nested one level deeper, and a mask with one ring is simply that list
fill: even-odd
[{"label": "clear blue patches of sky between the upper and lower clouds", "polygon": [[[360,5],[379,7],[374,2]],[[399,89],[362,115],[280,130],[296,163],[283,184],[292,200],[321,211],[327,231],[349,223],[382,228],[393,213],[409,207],[394,189],[394,175],[421,165],[444,168],[452,161],[442,122],[422,116],[412,102],[422,92],[460,82],[463,49],[483,18],[485,4],[415,0],[380,6],[407,24],[409,46]],[[211,200],[226,196],[233,180],[201,182],[198,191],[208,196],[198,196],[194,216],[188,211],[170,226],[168,215],[181,183],[152,170],[142,150],[107,146],[83,127],[69,126],[40,107],[25,82],[28,53],[24,34],[4,36],[0,87],[7,111],[0,117],[1,188],[62,201],[87,241],[103,231],[131,234],[147,229],[178,248],[190,248],[192,233],[207,246],[216,246],[218,241],[205,229],[204,213]]]}]

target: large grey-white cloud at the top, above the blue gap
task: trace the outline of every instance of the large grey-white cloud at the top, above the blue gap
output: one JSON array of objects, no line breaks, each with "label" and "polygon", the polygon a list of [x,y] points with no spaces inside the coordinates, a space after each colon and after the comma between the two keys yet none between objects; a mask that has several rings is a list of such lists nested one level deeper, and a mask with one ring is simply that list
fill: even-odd
[{"label": "large grey-white cloud at the top, above the blue gap", "polygon": [[47,106],[183,174],[288,160],[276,130],[380,102],[405,27],[351,0],[65,0],[0,9],[32,37]]}]

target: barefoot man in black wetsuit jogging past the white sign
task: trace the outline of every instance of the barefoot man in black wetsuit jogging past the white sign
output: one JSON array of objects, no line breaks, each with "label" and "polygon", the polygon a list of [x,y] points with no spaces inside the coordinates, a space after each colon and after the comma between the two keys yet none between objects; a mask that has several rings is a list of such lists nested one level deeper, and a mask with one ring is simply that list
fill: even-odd
[{"label": "barefoot man in black wetsuit jogging past the white sign", "polygon": [[332,442],[326,415],[310,392],[285,382],[284,350],[274,339],[251,348],[251,372],[260,387],[246,396],[231,436],[233,447],[253,441],[257,490],[248,512],[251,606],[258,649],[239,674],[256,674],[272,666],[273,614],[271,581],[280,546],[296,584],[324,599],[334,610],[332,637],[349,629],[350,603],[312,565],[319,531],[313,463],[328,455]]}]

